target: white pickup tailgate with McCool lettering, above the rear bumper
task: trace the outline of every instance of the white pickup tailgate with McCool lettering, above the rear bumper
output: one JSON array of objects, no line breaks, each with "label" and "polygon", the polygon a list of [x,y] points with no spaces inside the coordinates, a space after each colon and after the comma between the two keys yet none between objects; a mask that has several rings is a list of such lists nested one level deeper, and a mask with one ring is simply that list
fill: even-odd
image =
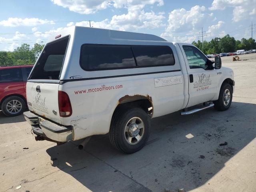
[{"label": "white pickup tailgate with McCool lettering, above the rear bumper", "polygon": [[27,82],[28,108],[34,113],[60,122],[58,106],[59,84]]}]

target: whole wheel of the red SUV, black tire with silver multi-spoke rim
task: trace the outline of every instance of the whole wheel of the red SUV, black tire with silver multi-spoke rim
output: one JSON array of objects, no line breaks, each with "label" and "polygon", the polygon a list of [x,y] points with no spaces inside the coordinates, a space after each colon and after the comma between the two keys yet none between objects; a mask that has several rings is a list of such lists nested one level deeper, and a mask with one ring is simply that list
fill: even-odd
[{"label": "whole wheel of the red SUV, black tire with silver multi-spoke rim", "polygon": [[26,104],[22,98],[18,96],[10,96],[4,99],[1,108],[6,116],[17,116],[24,112]]}]

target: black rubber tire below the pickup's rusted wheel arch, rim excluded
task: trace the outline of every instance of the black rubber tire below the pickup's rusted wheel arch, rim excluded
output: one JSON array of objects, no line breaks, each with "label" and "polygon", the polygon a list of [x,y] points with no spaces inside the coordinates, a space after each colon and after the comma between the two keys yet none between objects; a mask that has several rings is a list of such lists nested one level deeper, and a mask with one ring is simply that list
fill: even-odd
[{"label": "black rubber tire below the pickup's rusted wheel arch, rim excluded", "polygon": [[[128,140],[126,140],[125,128],[126,125],[129,124],[129,120],[137,117],[144,123],[144,134],[142,134],[139,141],[137,140],[138,143],[135,142],[136,144],[129,144]],[[109,132],[110,142],[117,150],[131,154],[144,147],[148,140],[149,130],[150,117],[144,110],[138,107],[120,108],[114,113],[112,118]],[[139,130],[139,133],[141,131],[143,130]]]}]

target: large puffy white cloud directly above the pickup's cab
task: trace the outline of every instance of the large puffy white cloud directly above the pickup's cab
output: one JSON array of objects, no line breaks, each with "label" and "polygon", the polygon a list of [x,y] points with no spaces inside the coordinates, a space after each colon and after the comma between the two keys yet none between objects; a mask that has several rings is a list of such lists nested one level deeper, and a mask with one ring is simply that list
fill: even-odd
[{"label": "large puffy white cloud directly above the pickup's cab", "polygon": [[206,30],[205,34],[209,34],[205,37],[209,40],[210,33],[212,37],[225,34],[225,31],[221,30],[224,25],[223,21],[218,21],[217,24],[208,26],[217,18],[213,13],[208,13],[207,11],[204,6],[198,5],[190,8],[190,10],[184,8],[172,10],[169,13],[168,26],[160,36],[170,41],[191,43],[198,40],[202,27],[204,28],[203,30]]}]

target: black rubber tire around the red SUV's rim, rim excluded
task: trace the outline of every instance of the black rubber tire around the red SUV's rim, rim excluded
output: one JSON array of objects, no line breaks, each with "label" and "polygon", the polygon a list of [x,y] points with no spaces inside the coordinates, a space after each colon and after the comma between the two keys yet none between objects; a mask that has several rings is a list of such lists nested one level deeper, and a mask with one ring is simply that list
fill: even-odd
[{"label": "black rubber tire around the red SUV's rim, rim excluded", "polygon": [[[18,103],[18,107],[17,107],[17,110],[15,112],[15,110],[13,112],[10,112],[8,111],[7,109],[7,104],[9,102],[12,103],[12,101],[17,101]],[[15,103],[15,102],[14,102]],[[21,104],[21,105],[20,105]],[[21,97],[18,97],[18,96],[10,96],[8,98],[5,98],[4,101],[2,102],[2,106],[1,106],[1,109],[2,109],[2,112],[6,115],[6,116],[9,116],[9,117],[13,117],[13,116],[18,116],[20,114],[22,114],[25,109],[26,109],[26,103],[25,101],[21,98]]]}]

